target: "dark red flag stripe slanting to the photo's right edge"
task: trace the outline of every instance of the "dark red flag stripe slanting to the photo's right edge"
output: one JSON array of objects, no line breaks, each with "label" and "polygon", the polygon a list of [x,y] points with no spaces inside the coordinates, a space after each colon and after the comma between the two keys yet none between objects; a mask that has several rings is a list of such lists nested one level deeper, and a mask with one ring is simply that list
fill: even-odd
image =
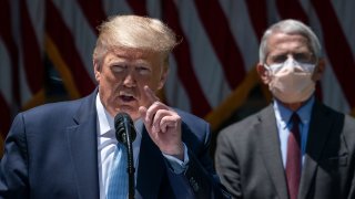
[{"label": "dark red flag stripe slanting to the photo's right edge", "polygon": [[324,46],[347,102],[355,107],[355,62],[331,1],[312,0],[322,23]]}]

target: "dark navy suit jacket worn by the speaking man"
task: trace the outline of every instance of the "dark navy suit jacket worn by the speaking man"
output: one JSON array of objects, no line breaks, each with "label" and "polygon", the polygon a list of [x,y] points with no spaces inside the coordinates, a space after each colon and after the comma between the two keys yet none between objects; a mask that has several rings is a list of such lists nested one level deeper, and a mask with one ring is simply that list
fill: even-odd
[{"label": "dark navy suit jacket worn by the speaking man", "polygon": [[[0,165],[0,198],[99,198],[95,96],[97,91],[14,118]],[[178,113],[183,119],[189,168],[182,175],[173,174],[144,129],[135,198],[176,198],[174,190],[184,186],[196,198],[223,198],[209,157],[209,124]]]}]

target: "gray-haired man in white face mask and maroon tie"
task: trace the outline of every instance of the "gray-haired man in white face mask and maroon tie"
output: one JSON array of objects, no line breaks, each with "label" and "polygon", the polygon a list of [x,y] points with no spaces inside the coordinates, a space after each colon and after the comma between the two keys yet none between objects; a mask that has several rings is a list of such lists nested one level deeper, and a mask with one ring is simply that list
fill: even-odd
[{"label": "gray-haired man in white face mask and maroon tie", "polygon": [[273,103],[217,138],[216,170],[233,198],[355,198],[355,119],[316,101],[320,57],[300,21],[265,31],[256,70]]}]

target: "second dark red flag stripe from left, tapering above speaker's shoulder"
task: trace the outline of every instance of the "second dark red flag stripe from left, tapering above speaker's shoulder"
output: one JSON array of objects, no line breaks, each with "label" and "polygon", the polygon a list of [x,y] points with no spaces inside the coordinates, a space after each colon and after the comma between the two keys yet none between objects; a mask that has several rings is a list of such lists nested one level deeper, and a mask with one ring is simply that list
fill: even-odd
[{"label": "second dark red flag stripe from left, tapering above speaker's shoulder", "polygon": [[41,51],[34,34],[32,21],[26,1],[20,2],[21,7],[21,40],[23,48],[23,67],[28,85],[32,94],[38,93],[43,87],[44,66],[41,59]]}]

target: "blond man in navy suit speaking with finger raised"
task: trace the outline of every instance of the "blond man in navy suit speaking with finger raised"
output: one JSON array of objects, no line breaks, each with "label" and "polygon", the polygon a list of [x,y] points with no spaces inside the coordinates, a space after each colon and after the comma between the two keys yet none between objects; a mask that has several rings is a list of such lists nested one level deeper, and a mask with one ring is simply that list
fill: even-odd
[{"label": "blond man in navy suit speaking with finger raised", "polygon": [[135,198],[227,197],[209,157],[209,124],[155,95],[179,43],[174,32],[136,15],[112,17],[99,30],[93,51],[98,88],[16,117],[0,165],[0,198],[126,198],[128,177],[113,175],[113,165],[125,156],[116,153],[124,147],[113,124],[123,112],[136,130]]}]

